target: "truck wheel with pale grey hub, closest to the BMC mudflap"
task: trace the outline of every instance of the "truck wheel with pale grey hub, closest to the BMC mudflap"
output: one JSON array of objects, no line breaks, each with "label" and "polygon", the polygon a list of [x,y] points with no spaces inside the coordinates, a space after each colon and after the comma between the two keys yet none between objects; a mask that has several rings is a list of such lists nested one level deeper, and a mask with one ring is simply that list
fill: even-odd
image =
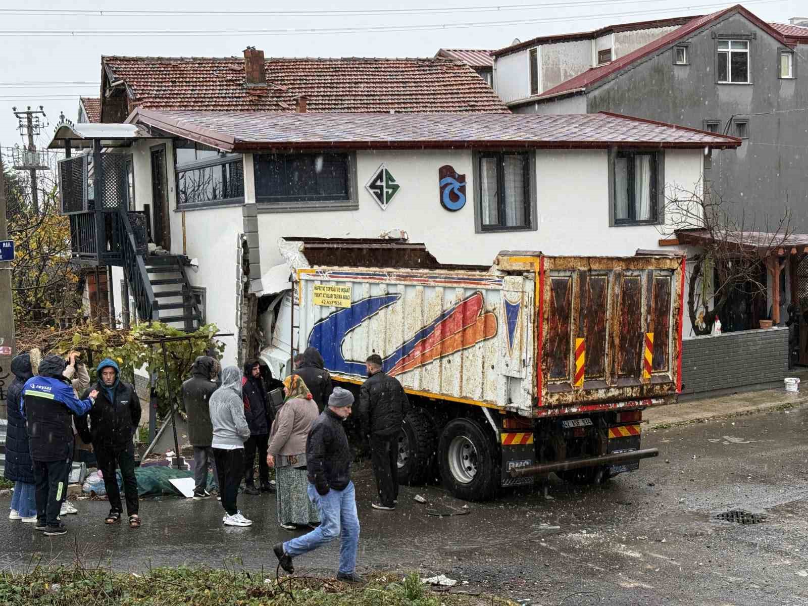
[{"label": "truck wheel with pale grey hub, closest to the BMC mudflap", "polygon": [[494,442],[469,419],[453,419],[440,436],[440,476],[458,499],[484,501],[499,486]]}]

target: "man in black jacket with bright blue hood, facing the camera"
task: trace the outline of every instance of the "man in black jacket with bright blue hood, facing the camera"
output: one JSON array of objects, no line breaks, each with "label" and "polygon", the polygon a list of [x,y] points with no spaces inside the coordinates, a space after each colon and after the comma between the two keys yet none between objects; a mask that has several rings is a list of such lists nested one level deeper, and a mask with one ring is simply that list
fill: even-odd
[{"label": "man in black jacket with bright blue hood, facing the camera", "polygon": [[104,524],[120,522],[120,516],[124,512],[115,473],[118,466],[120,475],[124,478],[129,527],[140,528],[133,437],[138,423],[141,422],[141,401],[137,398],[133,385],[120,380],[120,368],[115,360],[110,358],[101,360],[96,370],[98,385],[90,386],[85,393],[90,389],[97,389],[98,398],[89,415],[76,419],[76,429],[84,442],[93,444],[95,457],[99,461],[99,471],[103,474],[110,507]]}]

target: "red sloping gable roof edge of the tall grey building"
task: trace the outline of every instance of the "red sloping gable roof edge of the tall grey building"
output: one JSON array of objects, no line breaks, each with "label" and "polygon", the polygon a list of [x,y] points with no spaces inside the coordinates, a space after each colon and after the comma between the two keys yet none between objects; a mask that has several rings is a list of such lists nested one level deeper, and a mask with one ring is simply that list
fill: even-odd
[{"label": "red sloping gable roof edge of the tall grey building", "polygon": [[667,32],[664,36],[649,42],[645,46],[638,48],[637,50],[633,51],[633,53],[629,53],[623,57],[619,57],[612,61],[611,63],[607,63],[606,65],[600,65],[598,67],[593,67],[591,69],[587,69],[587,71],[583,72],[583,74],[579,74],[574,78],[570,78],[566,82],[562,82],[558,86],[553,86],[553,88],[545,90],[538,95],[538,97],[532,98],[532,100],[536,99],[544,99],[547,97],[553,97],[556,95],[562,95],[564,93],[572,93],[578,92],[581,90],[586,90],[587,87],[591,86],[595,82],[599,82],[612,74],[617,74],[617,72],[621,71],[632,65],[634,62],[639,61],[644,57],[648,57],[657,51],[667,47],[669,44],[674,44],[677,40],[681,40],[687,36],[690,36],[692,33],[695,33],[701,27],[705,27],[709,25],[709,23],[713,23],[717,19],[721,19],[725,15],[730,15],[730,13],[740,12],[743,15],[751,20],[755,25],[761,27],[762,29],[766,30],[777,40],[780,40],[782,44],[786,44],[785,37],[782,36],[780,32],[770,26],[768,23],[764,23],[755,15],[752,15],[751,12],[747,11],[747,9],[743,8],[743,6],[737,4],[735,6],[730,6],[730,8],[724,9],[722,11],[715,12],[711,15],[703,15],[701,17],[696,17],[692,19],[682,27],[677,27],[672,32]]}]

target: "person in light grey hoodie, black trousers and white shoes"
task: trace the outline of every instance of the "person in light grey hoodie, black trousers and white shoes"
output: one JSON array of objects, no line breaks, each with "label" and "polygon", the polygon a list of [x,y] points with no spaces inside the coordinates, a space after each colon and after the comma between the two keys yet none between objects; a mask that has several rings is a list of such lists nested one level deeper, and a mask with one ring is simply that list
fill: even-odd
[{"label": "person in light grey hoodie, black trousers and white shoes", "polygon": [[236,507],[238,485],[244,474],[244,443],[250,437],[242,400],[242,372],[237,366],[221,371],[221,387],[210,397],[209,410],[213,459],[219,477],[221,507],[225,508],[221,521],[227,526],[251,526],[252,521]]}]

